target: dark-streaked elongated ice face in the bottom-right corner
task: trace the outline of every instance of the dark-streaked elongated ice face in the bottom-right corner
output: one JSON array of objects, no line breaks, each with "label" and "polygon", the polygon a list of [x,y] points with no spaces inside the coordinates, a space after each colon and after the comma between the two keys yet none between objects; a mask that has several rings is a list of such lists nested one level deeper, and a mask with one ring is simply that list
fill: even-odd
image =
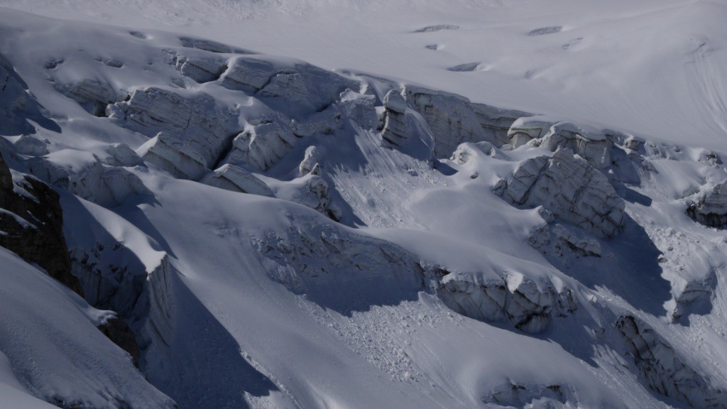
[{"label": "dark-streaked elongated ice face in the bottom-right corner", "polygon": [[641,378],[654,392],[693,408],[727,408],[727,391],[712,387],[656,331],[630,315],[619,317],[616,329],[627,341]]}]

